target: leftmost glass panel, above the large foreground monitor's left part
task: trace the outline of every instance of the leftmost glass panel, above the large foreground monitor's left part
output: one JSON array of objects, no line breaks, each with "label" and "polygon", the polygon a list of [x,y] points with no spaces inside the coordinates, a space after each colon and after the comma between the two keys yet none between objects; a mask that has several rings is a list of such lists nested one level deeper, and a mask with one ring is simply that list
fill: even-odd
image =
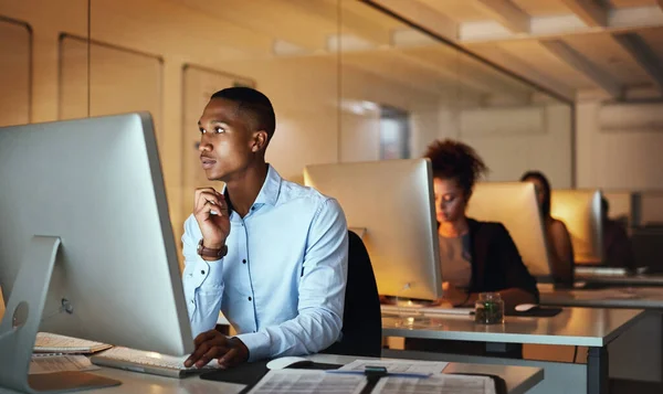
[{"label": "leftmost glass panel, above the large foreground monitor's left part", "polygon": [[57,119],[57,38],[86,38],[87,11],[87,0],[0,1],[0,126]]}]

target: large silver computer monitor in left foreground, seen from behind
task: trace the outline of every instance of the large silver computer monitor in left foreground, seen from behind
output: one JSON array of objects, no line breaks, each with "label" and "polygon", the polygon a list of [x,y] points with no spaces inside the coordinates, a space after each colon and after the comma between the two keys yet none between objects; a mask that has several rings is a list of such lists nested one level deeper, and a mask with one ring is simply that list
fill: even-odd
[{"label": "large silver computer monitor in left foreground, seen from behind", "polygon": [[0,387],[32,390],[38,330],[193,350],[149,114],[0,128]]}]

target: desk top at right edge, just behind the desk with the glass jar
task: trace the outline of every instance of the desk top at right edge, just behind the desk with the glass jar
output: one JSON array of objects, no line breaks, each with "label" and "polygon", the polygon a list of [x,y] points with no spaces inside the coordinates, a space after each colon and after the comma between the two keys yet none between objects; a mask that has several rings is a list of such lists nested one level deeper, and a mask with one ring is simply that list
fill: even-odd
[{"label": "desk top at right edge, just behind the desk with the glass jar", "polygon": [[663,309],[663,287],[540,291],[541,305],[588,308]]}]

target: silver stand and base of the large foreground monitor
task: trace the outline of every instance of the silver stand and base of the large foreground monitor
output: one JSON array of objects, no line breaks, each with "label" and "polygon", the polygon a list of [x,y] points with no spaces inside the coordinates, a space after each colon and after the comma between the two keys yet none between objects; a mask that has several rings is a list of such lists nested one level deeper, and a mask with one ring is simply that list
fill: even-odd
[{"label": "silver stand and base of the large foreground monitor", "polygon": [[60,237],[34,236],[21,262],[0,322],[0,392],[60,393],[122,382],[84,372],[29,375],[30,360],[55,265]]}]

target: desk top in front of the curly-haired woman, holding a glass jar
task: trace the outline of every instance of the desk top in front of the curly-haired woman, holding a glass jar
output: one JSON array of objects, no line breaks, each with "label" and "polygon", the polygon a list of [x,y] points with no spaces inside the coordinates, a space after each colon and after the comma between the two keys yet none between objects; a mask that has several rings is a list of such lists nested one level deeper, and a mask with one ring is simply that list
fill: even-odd
[{"label": "desk top in front of the curly-haired woman, holding a glass jar", "polygon": [[456,341],[604,347],[644,316],[643,310],[565,308],[551,318],[506,317],[504,324],[477,324],[473,316],[431,318],[436,323],[399,327],[396,317],[382,317],[386,337]]}]

